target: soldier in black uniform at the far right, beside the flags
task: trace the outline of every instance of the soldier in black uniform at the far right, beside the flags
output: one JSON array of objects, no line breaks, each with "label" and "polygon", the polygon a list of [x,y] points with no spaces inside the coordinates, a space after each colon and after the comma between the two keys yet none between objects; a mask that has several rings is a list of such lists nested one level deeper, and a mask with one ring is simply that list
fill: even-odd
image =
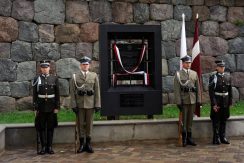
[{"label": "soldier in black uniform at the far right, beside the flags", "polygon": [[230,75],[224,73],[224,61],[216,61],[217,72],[209,78],[209,96],[211,100],[210,118],[213,125],[213,144],[230,144],[225,137],[226,121],[232,105],[232,86]]}]

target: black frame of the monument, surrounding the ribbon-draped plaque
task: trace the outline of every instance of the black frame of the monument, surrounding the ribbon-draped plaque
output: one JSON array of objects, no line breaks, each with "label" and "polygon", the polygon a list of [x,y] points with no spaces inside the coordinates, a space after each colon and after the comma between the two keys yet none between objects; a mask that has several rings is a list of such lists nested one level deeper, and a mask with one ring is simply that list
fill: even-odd
[{"label": "black frame of the monument, surrounding the ribbon-draped plaque", "polygon": [[[150,64],[150,85],[111,84],[111,42],[121,40],[146,40]],[[101,114],[154,115],[162,114],[162,64],[160,25],[103,24],[99,27]],[[128,78],[128,77],[127,77]]]}]

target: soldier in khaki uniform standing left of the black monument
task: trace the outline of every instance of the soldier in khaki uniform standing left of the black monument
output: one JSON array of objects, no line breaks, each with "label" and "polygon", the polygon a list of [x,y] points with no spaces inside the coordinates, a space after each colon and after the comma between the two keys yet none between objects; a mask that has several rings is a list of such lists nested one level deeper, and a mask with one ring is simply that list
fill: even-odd
[{"label": "soldier in khaki uniform standing left of the black monument", "polygon": [[91,59],[80,59],[80,72],[73,74],[71,80],[71,108],[78,118],[80,146],[77,153],[93,153],[91,131],[93,113],[101,108],[99,80],[96,73],[89,71]]}]

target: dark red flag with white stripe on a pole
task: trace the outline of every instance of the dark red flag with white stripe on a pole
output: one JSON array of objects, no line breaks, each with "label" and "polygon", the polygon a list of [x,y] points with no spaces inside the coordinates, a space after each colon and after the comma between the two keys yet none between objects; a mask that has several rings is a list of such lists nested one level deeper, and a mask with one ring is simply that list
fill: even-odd
[{"label": "dark red flag with white stripe on a pole", "polygon": [[[201,52],[200,52],[200,44],[199,44],[199,29],[198,29],[198,14],[196,16],[195,22],[195,32],[193,39],[193,48],[192,48],[192,65],[191,69],[197,72],[200,83],[200,90],[202,91],[201,83],[202,83],[202,70],[201,70]],[[202,97],[201,97],[202,98]],[[195,114],[200,117],[200,105],[196,105]]]}]

